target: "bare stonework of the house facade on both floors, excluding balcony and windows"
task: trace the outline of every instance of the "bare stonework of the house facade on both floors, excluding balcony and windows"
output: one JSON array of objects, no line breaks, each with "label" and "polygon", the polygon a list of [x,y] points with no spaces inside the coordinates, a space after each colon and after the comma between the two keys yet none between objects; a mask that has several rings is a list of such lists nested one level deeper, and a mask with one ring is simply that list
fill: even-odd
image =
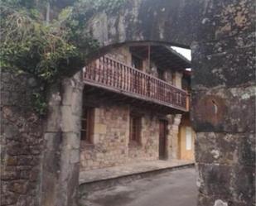
[{"label": "bare stonework of the house facade on both floors, excluding balcony and windows", "polygon": [[[146,47],[147,48],[147,47]],[[132,53],[129,46],[121,46],[108,54],[114,60],[126,65],[132,65]],[[147,58],[142,60],[142,70],[158,77],[157,65]],[[181,88],[182,73],[165,69],[163,79],[169,84]],[[86,89],[86,86],[85,86]],[[129,104],[108,102],[107,98],[85,96],[85,104],[89,102],[94,107],[93,134],[91,142],[81,141],[80,170],[94,170],[115,165],[123,165],[142,160],[159,159],[159,119],[167,120],[167,136],[165,158],[177,158],[178,127],[181,115],[161,115],[157,111],[134,108]],[[93,103],[92,103],[93,102]],[[118,102],[118,100],[117,100]],[[99,105],[100,104],[100,105]],[[129,144],[130,113],[138,111],[142,117],[141,140],[138,145]],[[172,124],[173,123],[173,124]]]}]

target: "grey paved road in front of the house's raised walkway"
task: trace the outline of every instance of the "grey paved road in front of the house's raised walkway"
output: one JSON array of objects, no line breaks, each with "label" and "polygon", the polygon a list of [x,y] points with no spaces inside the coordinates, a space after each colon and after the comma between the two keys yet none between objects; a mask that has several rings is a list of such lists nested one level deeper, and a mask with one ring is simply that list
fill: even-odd
[{"label": "grey paved road in front of the house's raised walkway", "polygon": [[196,206],[196,171],[171,171],[89,194],[86,206]]}]

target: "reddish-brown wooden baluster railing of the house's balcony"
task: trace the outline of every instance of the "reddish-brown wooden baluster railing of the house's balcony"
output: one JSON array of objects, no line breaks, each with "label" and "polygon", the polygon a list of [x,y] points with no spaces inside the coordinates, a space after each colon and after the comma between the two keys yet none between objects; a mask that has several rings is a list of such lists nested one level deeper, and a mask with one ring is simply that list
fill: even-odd
[{"label": "reddish-brown wooden baluster railing of the house's balcony", "polygon": [[85,67],[84,81],[85,84],[114,90],[134,98],[187,110],[185,90],[107,56],[100,57]]}]

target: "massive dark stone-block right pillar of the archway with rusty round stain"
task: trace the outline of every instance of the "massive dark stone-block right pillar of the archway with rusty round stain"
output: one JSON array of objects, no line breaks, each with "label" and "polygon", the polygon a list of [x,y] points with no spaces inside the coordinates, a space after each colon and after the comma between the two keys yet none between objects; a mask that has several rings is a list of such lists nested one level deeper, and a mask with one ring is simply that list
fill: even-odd
[{"label": "massive dark stone-block right pillar of the archway with rusty round stain", "polygon": [[191,46],[198,206],[255,204],[254,3],[210,2]]}]

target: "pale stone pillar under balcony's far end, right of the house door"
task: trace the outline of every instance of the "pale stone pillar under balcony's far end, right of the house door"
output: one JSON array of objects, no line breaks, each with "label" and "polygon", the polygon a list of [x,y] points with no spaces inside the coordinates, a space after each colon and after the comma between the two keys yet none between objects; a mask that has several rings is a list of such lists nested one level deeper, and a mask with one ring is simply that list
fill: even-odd
[{"label": "pale stone pillar under balcony's far end, right of the house door", "polygon": [[181,123],[181,114],[168,115],[168,159],[177,159],[179,152],[179,125]]}]

